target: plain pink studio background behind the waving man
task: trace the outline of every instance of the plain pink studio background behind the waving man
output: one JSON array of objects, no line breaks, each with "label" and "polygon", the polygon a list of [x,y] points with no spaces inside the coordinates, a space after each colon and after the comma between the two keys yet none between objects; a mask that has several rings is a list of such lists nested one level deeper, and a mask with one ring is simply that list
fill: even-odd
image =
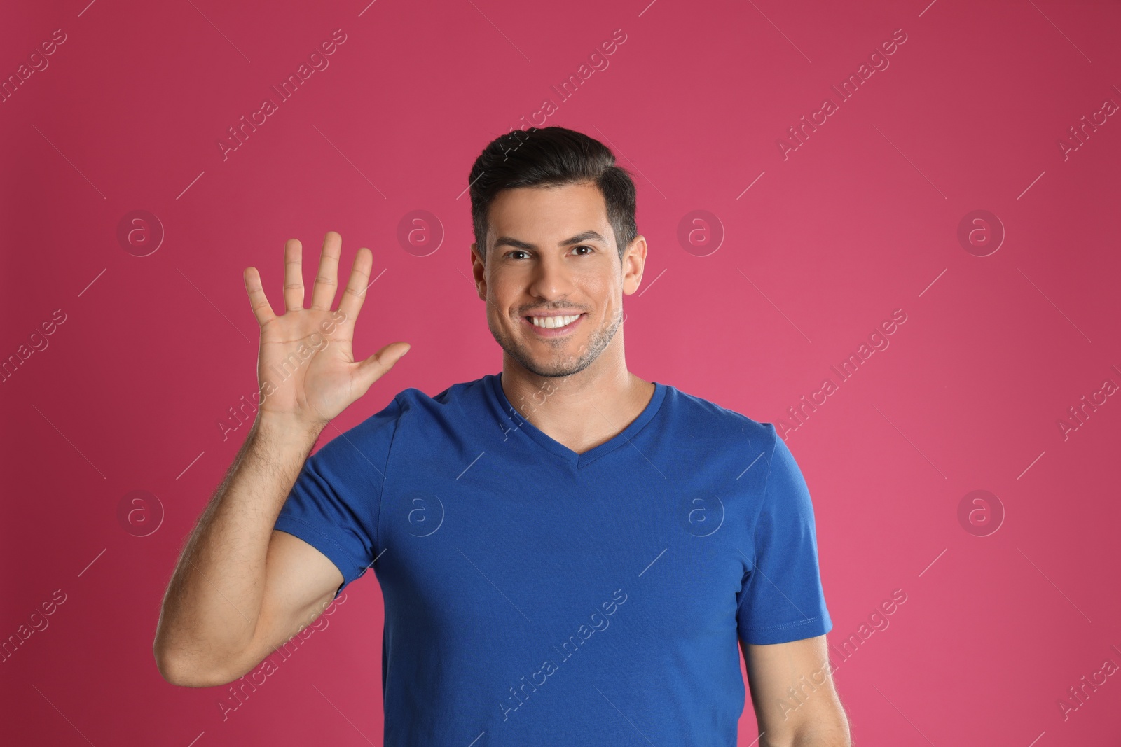
[{"label": "plain pink studio background behind the waving man", "polygon": [[[152,659],[180,543],[248,430],[219,426],[256,387],[241,272],[259,268],[277,306],[285,240],[317,261],[328,230],[348,272],[363,245],[385,271],[355,353],[413,351],[324,441],[407,386],[497,373],[467,280],[466,177],[548,99],[534,123],[602,140],[638,184],[638,375],[797,424],[788,408],[907,315],[787,441],[858,744],[1117,744],[1121,675],[1065,719],[1058,706],[1121,664],[1121,398],[1096,395],[1066,437],[1058,424],[1121,384],[1121,116],[1066,158],[1058,144],[1121,103],[1117,3],[86,2],[0,11],[4,77],[66,38],[0,104],[0,355],[48,343],[0,385],[0,637],[49,623],[0,664],[0,740],[381,744],[372,573],[224,720],[226,689],[175,688]],[[228,128],[335,29],[330,66],[223,160]],[[550,86],[615,29],[609,66],[563,100]],[[831,86],[896,29],[890,65],[841,102]],[[839,110],[784,158],[779,138],[826,96]],[[146,256],[117,235],[136,209],[165,232]],[[398,241],[417,209],[444,232],[425,256]],[[714,252],[678,241],[698,209],[723,232]],[[976,209],[1007,233],[985,256],[957,239]],[[33,339],[56,309],[65,321]],[[958,520],[978,489],[1004,512],[984,536],[991,524]],[[122,521],[132,491],[155,498]],[[137,536],[156,501],[161,522]],[[896,589],[889,627],[836,654]],[[750,703],[740,727],[751,744]]]}]

